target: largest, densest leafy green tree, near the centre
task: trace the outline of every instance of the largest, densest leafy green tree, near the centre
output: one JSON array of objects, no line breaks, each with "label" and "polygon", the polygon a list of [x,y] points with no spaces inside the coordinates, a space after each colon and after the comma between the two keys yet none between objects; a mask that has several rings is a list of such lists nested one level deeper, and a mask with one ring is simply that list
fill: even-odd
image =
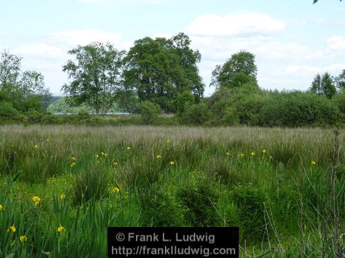
[{"label": "largest, densest leafy green tree, near the centre", "polygon": [[177,94],[190,92],[200,98],[204,92],[197,69],[200,58],[183,33],[171,39],[139,39],[124,59],[126,87],[135,89],[139,100],[155,103],[164,112],[175,112]]}]

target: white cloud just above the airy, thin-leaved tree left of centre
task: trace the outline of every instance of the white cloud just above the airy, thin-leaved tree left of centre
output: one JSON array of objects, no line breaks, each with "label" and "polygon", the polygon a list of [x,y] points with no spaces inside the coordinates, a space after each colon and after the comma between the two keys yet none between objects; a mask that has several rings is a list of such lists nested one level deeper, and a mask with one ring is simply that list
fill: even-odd
[{"label": "white cloud just above the airy, thin-leaved tree left of centre", "polygon": [[110,42],[117,44],[121,40],[121,34],[112,32],[103,32],[102,30],[65,30],[52,34],[53,41],[68,45],[88,45],[94,41],[103,43]]}]

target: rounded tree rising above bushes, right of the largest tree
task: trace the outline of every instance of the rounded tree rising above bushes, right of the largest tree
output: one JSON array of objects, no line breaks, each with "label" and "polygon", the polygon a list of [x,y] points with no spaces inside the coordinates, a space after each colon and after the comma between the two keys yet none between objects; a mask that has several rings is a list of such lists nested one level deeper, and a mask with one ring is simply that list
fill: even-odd
[{"label": "rounded tree rising above bushes, right of the largest tree", "polygon": [[233,54],[226,63],[217,65],[212,72],[211,84],[219,87],[240,87],[244,83],[256,83],[257,66],[255,55],[240,51]]}]

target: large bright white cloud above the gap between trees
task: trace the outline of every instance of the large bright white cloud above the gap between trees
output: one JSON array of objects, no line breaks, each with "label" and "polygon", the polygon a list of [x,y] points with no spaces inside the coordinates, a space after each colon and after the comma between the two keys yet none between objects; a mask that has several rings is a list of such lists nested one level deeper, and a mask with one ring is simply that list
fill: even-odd
[{"label": "large bright white cloud above the gap between trees", "polygon": [[197,17],[186,32],[195,36],[238,36],[267,35],[284,30],[282,21],[266,14],[240,12],[220,17],[216,14],[204,14]]}]

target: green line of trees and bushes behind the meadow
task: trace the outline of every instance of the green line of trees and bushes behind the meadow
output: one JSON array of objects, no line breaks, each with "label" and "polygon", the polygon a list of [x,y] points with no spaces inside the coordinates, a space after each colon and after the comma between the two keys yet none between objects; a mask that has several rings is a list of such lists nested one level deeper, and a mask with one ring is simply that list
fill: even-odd
[{"label": "green line of trees and bushes behind the meadow", "polygon": [[[110,43],[78,45],[63,65],[70,81],[65,98],[50,104],[51,94],[38,72],[21,71],[21,58],[4,51],[0,58],[0,118],[6,122],[97,123],[120,120],[153,125],[254,125],[299,127],[344,124],[345,69],[338,76],[317,74],[306,92],[266,91],[257,84],[255,55],[240,51],[217,65],[204,98],[198,50],[184,33],[170,39],[146,37],[128,52]],[[47,109],[48,107],[48,109]],[[54,116],[57,109],[79,112]],[[89,116],[128,111],[124,118]],[[165,114],[169,114],[166,116]]]}]

